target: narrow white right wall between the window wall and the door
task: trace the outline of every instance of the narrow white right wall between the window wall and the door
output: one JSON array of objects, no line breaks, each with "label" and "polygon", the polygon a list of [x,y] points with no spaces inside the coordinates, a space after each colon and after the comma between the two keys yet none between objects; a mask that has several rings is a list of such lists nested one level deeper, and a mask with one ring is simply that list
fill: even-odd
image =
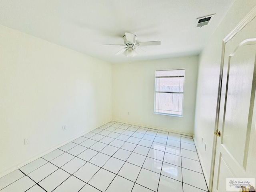
[{"label": "narrow white right wall between the window wall and the door", "polygon": [[[236,0],[200,54],[194,139],[208,184],[214,138],[222,40],[255,5],[255,0]],[[204,142],[206,142],[206,151],[204,151],[204,144],[201,144],[202,137]]]}]

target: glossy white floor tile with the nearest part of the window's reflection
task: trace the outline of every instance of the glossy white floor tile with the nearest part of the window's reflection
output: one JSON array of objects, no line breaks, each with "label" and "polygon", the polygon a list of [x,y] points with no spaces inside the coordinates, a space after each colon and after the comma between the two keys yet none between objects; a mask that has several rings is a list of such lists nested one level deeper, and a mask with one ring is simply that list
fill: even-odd
[{"label": "glossy white floor tile with the nearest part of the window's reflection", "polygon": [[170,177],[172,179],[176,179],[182,182],[182,172],[181,172],[181,167],[179,166],[163,162],[161,175],[164,175],[166,177]]}]

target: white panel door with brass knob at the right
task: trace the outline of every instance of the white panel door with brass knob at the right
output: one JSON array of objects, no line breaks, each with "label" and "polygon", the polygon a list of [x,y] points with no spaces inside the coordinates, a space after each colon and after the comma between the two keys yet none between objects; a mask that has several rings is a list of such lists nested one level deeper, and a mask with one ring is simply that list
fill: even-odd
[{"label": "white panel door with brass knob at the right", "polygon": [[226,178],[256,178],[256,18],[223,49],[213,192],[226,192]]}]

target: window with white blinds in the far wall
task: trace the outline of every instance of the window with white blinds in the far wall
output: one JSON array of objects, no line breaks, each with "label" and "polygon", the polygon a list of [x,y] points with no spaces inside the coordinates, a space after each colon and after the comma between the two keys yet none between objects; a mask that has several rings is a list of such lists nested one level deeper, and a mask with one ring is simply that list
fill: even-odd
[{"label": "window with white blinds in the far wall", "polygon": [[182,116],[185,69],[156,71],[154,113]]}]

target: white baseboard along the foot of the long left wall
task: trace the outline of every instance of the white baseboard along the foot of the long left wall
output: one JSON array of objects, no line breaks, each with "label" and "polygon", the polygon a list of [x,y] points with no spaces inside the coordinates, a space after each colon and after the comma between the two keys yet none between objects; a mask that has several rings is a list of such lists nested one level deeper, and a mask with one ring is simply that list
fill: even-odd
[{"label": "white baseboard along the foot of the long left wall", "polygon": [[[101,124],[100,126],[102,126],[102,125],[104,125],[104,124],[106,124],[106,123],[108,123],[108,122],[110,122],[110,121],[111,121],[111,120],[109,120],[109,121],[107,121],[107,122]],[[84,134],[86,134],[86,133],[88,133],[88,132],[91,132],[92,130],[94,130],[94,129],[100,127],[100,126],[96,126],[96,127],[94,127],[94,128],[91,128],[90,130],[88,130],[88,131],[86,131],[86,132],[83,132],[83,133],[81,133],[81,134],[79,134],[79,135],[77,135],[77,136],[75,136],[75,137],[72,137],[72,138],[70,138],[70,139],[68,139],[68,140],[66,140],[66,141],[64,141],[64,142],[62,142],[61,144],[58,144],[58,145],[56,145],[56,146],[54,146],[54,147],[52,147],[52,148],[50,148],[50,149],[48,149],[48,150],[46,150],[46,151],[40,153],[40,154],[37,154],[36,156],[34,156],[34,157],[32,157],[32,158],[29,158],[28,160],[25,160],[25,161],[23,161],[23,162],[21,162],[21,163],[15,165],[15,166],[11,167],[11,168],[8,169],[8,170],[4,170],[3,172],[0,173],[0,178],[3,177],[3,176],[5,176],[5,175],[7,175],[7,174],[9,174],[9,173],[11,173],[11,172],[13,172],[13,171],[15,171],[15,170],[17,170],[18,168],[23,167],[24,165],[26,165],[26,164],[28,164],[28,163],[30,163],[30,162],[32,162],[32,161],[34,161],[34,160],[36,160],[36,159],[38,159],[38,158],[40,158],[40,157],[42,157],[42,156],[44,156],[44,155],[46,155],[46,154],[52,152],[52,151],[54,151],[54,150],[60,148],[61,146],[66,145],[67,143],[69,143],[69,142],[71,142],[71,141],[73,141],[73,140],[75,140],[75,139],[77,139],[77,138],[83,136]]]}]

